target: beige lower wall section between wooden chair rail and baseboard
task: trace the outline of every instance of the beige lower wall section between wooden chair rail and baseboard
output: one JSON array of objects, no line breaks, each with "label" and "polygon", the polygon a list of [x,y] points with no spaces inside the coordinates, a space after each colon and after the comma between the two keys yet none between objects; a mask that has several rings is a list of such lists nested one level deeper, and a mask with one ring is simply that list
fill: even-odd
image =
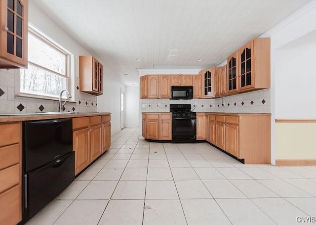
[{"label": "beige lower wall section between wooden chair rail and baseboard", "polygon": [[276,160],[316,160],[316,122],[275,125]]}]

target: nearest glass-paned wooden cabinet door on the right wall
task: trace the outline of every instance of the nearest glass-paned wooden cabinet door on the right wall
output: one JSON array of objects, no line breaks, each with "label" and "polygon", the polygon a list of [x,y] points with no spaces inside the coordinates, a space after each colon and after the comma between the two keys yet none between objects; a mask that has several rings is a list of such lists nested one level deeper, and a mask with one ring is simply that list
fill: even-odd
[{"label": "nearest glass-paned wooden cabinet door on the right wall", "polygon": [[243,46],[238,51],[238,57],[240,62],[239,67],[239,90],[252,88],[254,86],[254,77],[253,77],[253,42],[251,41],[247,45]]}]

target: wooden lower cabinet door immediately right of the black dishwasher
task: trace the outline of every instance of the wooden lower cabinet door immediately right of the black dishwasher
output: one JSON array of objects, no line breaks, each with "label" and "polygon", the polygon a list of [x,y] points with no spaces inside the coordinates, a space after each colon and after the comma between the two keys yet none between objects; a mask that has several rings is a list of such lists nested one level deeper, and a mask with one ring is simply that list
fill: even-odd
[{"label": "wooden lower cabinet door immediately right of the black dishwasher", "polygon": [[75,174],[77,175],[90,163],[90,128],[74,131],[73,149],[75,151]]}]

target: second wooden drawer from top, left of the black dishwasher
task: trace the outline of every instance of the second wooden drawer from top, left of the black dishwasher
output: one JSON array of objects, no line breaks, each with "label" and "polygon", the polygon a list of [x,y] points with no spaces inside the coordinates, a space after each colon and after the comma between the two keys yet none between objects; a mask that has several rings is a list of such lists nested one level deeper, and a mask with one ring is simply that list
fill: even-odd
[{"label": "second wooden drawer from top, left of the black dishwasher", "polygon": [[20,144],[0,148],[0,169],[20,162]]}]

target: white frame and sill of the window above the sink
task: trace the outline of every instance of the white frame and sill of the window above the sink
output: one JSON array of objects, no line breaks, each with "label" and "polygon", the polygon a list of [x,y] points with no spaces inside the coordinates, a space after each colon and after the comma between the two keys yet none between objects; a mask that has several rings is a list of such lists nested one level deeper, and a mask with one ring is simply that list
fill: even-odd
[{"label": "white frame and sill of the window above the sink", "polygon": [[[57,49],[61,53],[65,54],[65,75],[61,74],[60,72],[53,71],[49,68],[46,68],[42,65],[32,63],[28,60],[28,65],[33,65],[35,67],[38,67],[40,69],[43,69],[45,71],[48,71],[50,73],[53,73],[57,76],[61,76],[63,78],[67,79],[67,90],[72,94],[72,98],[64,98],[62,97],[63,100],[70,101],[70,102],[75,102],[74,95],[72,93],[72,80],[73,80],[73,75],[72,75],[72,66],[74,64],[74,58],[75,55],[72,54],[70,51],[62,47],[59,43],[57,43],[55,40],[53,40],[51,37],[47,36],[44,32],[40,31],[37,29],[35,26],[29,23],[29,28],[28,28],[28,35],[29,33],[32,33],[36,38],[40,39],[43,41],[45,44],[51,46],[52,48]],[[29,50],[30,51],[30,50]],[[16,77],[16,85],[15,85],[15,96],[22,96],[22,97],[32,97],[32,98],[40,98],[40,99],[48,99],[48,100],[59,100],[59,97],[53,97],[53,96],[46,96],[46,95],[37,95],[37,94],[30,94],[30,93],[24,93],[21,92],[21,69],[17,70],[15,73]]]}]

